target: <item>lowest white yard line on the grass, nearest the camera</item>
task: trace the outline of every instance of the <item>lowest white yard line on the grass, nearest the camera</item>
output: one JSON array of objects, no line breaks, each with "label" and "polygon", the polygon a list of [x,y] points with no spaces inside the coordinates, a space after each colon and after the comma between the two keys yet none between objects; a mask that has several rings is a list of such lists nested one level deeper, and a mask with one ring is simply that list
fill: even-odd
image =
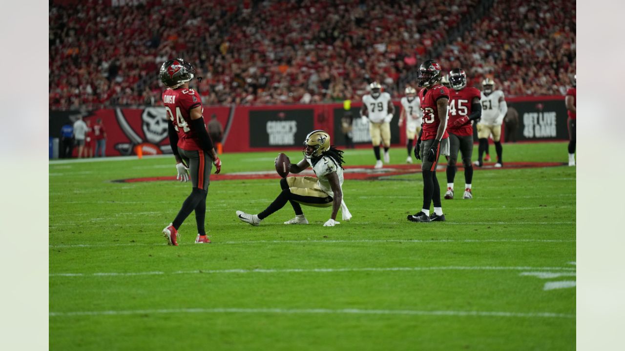
[{"label": "lowest white yard line on the grass, nearest the camera", "polygon": [[434,315],[449,317],[519,317],[575,319],[573,314],[553,312],[499,312],[454,310],[367,310],[367,309],[155,309],[49,312],[49,317],[76,317],[85,315],[136,315],[136,314],[364,314],[364,315]]}]

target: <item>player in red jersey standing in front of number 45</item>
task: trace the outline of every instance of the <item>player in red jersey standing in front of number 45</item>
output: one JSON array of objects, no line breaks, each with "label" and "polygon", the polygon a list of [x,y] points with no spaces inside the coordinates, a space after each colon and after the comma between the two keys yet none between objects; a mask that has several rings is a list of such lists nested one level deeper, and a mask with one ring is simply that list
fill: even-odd
[{"label": "player in red jersey standing in front of number 45", "polygon": [[[441,154],[449,155],[449,134],[447,134],[447,113],[449,89],[441,85],[441,65],[434,60],[423,62],[417,71],[423,124],[417,139],[414,156],[422,159],[423,207],[420,212],[408,215],[412,222],[434,222],[445,220],[441,205],[441,187],[436,179],[436,165]],[[430,203],[434,202],[434,214],[429,215]]]}]

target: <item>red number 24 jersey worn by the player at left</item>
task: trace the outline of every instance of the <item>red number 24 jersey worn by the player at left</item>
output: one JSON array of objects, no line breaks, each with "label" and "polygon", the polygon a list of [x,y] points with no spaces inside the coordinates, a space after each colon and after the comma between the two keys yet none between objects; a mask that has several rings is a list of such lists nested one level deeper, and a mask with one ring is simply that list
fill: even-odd
[{"label": "red number 24 jersey worn by the player at left", "polygon": [[[178,147],[184,150],[202,150],[196,132],[191,130],[191,109],[202,106],[202,100],[193,89],[167,89],[163,92],[167,117],[178,132]],[[202,107],[204,112],[204,107]]]}]

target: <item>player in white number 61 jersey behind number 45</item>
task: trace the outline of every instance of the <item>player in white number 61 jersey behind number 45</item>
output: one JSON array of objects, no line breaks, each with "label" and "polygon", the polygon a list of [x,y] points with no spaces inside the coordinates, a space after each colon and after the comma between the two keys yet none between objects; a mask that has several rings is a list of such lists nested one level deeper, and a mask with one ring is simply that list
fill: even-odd
[{"label": "player in white number 61 jersey behind number 45", "polygon": [[501,154],[501,124],[506,117],[507,104],[504,100],[504,92],[494,90],[495,82],[492,78],[482,81],[482,94],[480,102],[482,104],[482,119],[477,124],[477,137],[479,138],[478,158],[475,164],[482,167],[482,156],[488,147],[488,137],[492,134],[492,141],[495,142],[497,151],[497,163],[495,167],[502,167],[503,160]]}]

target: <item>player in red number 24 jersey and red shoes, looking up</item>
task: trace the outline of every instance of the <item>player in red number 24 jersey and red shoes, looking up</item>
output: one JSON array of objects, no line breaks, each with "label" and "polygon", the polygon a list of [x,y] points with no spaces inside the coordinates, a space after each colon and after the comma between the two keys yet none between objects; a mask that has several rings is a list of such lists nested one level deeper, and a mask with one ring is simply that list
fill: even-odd
[{"label": "player in red number 24 jersey and red shoes, looking up", "polygon": [[[206,132],[202,112],[202,100],[189,81],[193,79],[195,69],[183,59],[171,59],[161,66],[159,77],[168,87],[163,92],[163,103],[168,117],[169,144],[176,158],[176,179],[189,180],[191,170],[191,194],[183,202],[183,207],[174,221],[163,229],[169,245],[178,246],[178,229],[184,220],[195,211],[197,223],[196,244],[209,243],[204,230],[206,217],[206,195],[208,192],[211,162],[215,165],[215,174],[221,171],[221,161],[212,146],[211,137]],[[211,162],[206,162],[210,160]]]}]

